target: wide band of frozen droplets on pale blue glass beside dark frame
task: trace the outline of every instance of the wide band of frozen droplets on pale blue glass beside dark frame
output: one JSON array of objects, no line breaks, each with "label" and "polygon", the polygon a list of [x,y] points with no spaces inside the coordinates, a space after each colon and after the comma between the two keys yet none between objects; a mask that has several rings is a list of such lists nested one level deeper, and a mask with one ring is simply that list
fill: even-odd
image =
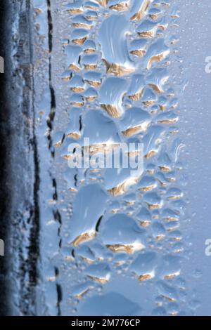
[{"label": "wide band of frozen droplets on pale blue glass beside dark frame", "polygon": [[[174,3],[34,1],[41,314],[187,312]],[[68,168],[87,137],[143,143],[142,176]]]}]

